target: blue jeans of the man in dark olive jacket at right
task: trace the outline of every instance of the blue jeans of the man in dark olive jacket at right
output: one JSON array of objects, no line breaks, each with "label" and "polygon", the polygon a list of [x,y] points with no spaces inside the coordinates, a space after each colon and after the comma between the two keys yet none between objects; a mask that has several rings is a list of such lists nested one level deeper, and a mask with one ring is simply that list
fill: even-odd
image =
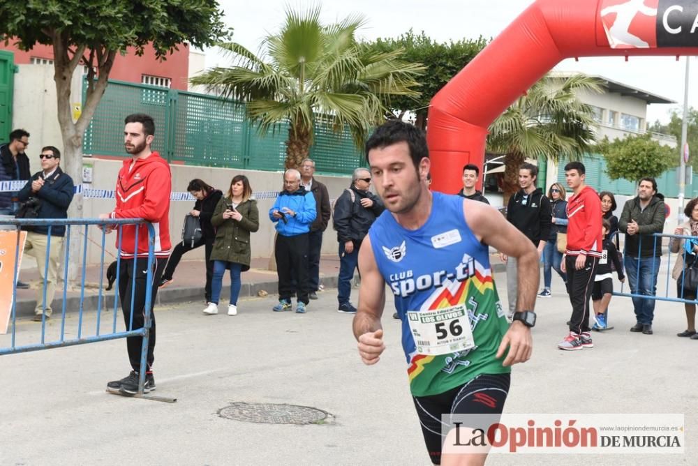
[{"label": "blue jeans of the man in dark olive jacket at right", "polygon": [[[661,257],[623,257],[625,274],[632,294],[655,296],[657,294],[657,276]],[[652,324],[654,319],[654,299],[632,298],[635,317],[638,324]]]}]

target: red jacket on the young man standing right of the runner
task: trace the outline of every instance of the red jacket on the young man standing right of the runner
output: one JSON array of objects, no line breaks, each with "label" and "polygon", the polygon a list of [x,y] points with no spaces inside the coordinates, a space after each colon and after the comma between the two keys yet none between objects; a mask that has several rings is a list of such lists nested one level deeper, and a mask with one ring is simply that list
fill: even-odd
[{"label": "red jacket on the young man standing right of the runner", "polygon": [[567,255],[601,257],[601,217],[601,200],[590,186],[567,200]]}]

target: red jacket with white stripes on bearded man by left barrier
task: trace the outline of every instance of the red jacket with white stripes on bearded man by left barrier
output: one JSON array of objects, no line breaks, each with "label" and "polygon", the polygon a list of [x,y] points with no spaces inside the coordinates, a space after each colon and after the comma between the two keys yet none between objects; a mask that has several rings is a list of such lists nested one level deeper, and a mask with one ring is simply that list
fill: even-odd
[{"label": "red jacket with white stripes on bearded man by left barrier", "polygon": [[[131,166],[133,164],[133,166]],[[154,253],[156,257],[170,255],[170,192],[172,174],[170,165],[157,152],[147,158],[124,160],[117,177],[117,206],[111,218],[143,218],[155,228]],[[138,227],[138,257],[148,257],[148,229]],[[133,257],[136,225],[121,228],[121,257]],[[117,248],[119,235],[117,235]]]}]

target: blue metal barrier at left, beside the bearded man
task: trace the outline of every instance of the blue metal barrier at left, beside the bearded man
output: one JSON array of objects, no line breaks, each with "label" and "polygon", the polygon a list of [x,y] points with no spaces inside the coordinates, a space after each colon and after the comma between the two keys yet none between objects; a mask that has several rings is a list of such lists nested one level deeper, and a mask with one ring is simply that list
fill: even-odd
[{"label": "blue metal barrier at left, beside the bearded man", "polygon": [[[0,346],[0,355],[3,354],[15,354],[21,352],[47,350],[54,347],[66,347],[73,345],[82,345],[84,343],[94,343],[98,341],[114,340],[117,338],[126,338],[131,336],[141,336],[142,348],[141,348],[141,359],[140,359],[140,371],[139,371],[139,383],[138,383],[138,396],[142,396],[143,385],[145,382],[146,365],[147,365],[147,354],[148,354],[148,343],[149,334],[151,329],[151,297],[152,297],[152,286],[153,286],[153,264],[154,264],[154,241],[155,241],[155,229],[153,225],[141,219],[110,219],[110,220],[100,220],[96,218],[89,219],[8,219],[0,220],[1,225],[14,225],[17,232],[17,242],[15,243],[15,269],[13,273],[14,281],[17,283],[17,277],[19,276],[19,255],[20,255],[20,231],[26,229],[26,227],[43,226],[47,227],[47,246],[46,246],[46,261],[44,264],[43,273],[43,302],[41,308],[43,310],[41,318],[41,336],[38,343],[32,343],[29,345],[17,345],[16,335],[17,335],[17,287],[13,286],[13,304],[12,311],[10,315],[10,326],[11,326],[11,336],[10,336],[10,346],[2,347]],[[47,279],[48,279],[48,268],[50,260],[50,250],[51,250],[51,230],[57,226],[66,226],[66,234],[64,236],[65,241],[65,255],[63,257],[63,268],[64,268],[64,287],[63,287],[63,306],[61,311],[61,329],[60,335],[57,340],[46,341],[46,289],[47,289]],[[89,334],[87,336],[83,335],[83,315],[84,315],[84,290],[85,290],[85,279],[87,275],[87,240],[88,240],[88,228],[90,225],[96,225],[101,229],[101,259],[99,267],[99,291],[97,300],[97,310],[96,310],[96,329],[94,334]],[[147,287],[145,292],[145,322],[142,329],[133,329],[133,306],[134,306],[134,296],[135,296],[135,273],[133,274],[131,282],[131,321],[128,324],[126,331],[117,331],[117,314],[119,313],[119,271],[121,270],[121,262],[131,259],[121,259],[121,230],[124,225],[146,225],[148,230],[148,262],[147,262]],[[83,227],[84,226],[84,241],[82,244],[82,264],[80,273],[80,306],[77,315],[77,337],[76,338],[66,338],[66,301],[68,298],[68,258],[70,257],[70,232],[73,227]],[[104,252],[105,252],[105,241],[106,235],[109,233],[107,229],[103,228],[105,226],[114,227],[119,233],[119,244],[117,245],[117,276],[114,281],[114,316],[111,326],[111,331],[107,333],[102,333],[101,317],[103,310],[103,302],[105,301],[105,296],[103,293],[103,276],[104,276]],[[135,228],[135,245],[138,245],[138,232],[140,228]],[[12,231],[12,230],[10,230]],[[57,236],[54,236],[57,237]],[[134,268],[135,260],[137,257],[133,258]]]}]

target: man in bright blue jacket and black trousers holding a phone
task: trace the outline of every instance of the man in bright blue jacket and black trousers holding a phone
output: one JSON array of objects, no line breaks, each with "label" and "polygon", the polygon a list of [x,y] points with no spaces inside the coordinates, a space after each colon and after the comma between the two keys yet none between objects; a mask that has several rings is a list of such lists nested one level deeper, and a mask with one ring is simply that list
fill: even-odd
[{"label": "man in bright blue jacket and black trousers holding a phone", "polygon": [[[308,275],[309,232],[317,211],[313,193],[301,186],[298,170],[288,169],[283,173],[283,191],[276,197],[269,219],[276,225],[274,258],[279,276],[279,304],[276,312],[291,310],[291,295],[295,292],[298,305],[296,312],[303,314],[308,305],[311,283]],[[295,278],[295,287],[293,285]]]}]

